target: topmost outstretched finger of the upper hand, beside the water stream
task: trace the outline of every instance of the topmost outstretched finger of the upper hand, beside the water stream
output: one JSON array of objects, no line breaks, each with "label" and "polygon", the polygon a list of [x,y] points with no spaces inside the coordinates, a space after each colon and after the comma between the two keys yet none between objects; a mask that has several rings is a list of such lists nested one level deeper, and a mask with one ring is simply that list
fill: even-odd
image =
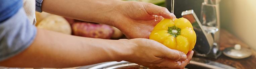
[{"label": "topmost outstretched finger of the upper hand, beside the water stream", "polygon": [[176,16],[173,13],[170,13],[165,7],[157,6],[152,3],[146,3],[144,4],[144,8],[150,15],[163,16],[164,18],[176,18]]}]

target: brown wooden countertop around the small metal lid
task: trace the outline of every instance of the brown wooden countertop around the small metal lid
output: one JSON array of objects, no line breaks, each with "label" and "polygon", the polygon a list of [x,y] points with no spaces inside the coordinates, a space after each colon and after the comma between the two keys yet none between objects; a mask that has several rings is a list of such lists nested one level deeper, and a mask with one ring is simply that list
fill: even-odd
[{"label": "brown wooden countertop around the small metal lid", "polygon": [[243,48],[248,48],[252,51],[252,56],[244,59],[233,59],[226,57],[224,54],[217,59],[204,58],[211,61],[226,64],[237,69],[256,69],[256,51],[249,48],[249,46],[235,37],[233,34],[227,32],[224,29],[220,31],[220,50],[224,50],[227,47],[234,47],[234,45],[240,44]]}]

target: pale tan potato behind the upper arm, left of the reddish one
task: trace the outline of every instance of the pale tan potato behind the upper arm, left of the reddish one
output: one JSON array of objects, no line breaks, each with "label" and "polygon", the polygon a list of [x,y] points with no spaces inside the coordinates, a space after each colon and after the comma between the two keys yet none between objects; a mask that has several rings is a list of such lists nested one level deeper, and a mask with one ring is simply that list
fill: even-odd
[{"label": "pale tan potato behind the upper arm, left of the reddish one", "polygon": [[57,15],[50,15],[46,17],[37,25],[37,27],[65,34],[71,34],[71,27],[67,20]]}]

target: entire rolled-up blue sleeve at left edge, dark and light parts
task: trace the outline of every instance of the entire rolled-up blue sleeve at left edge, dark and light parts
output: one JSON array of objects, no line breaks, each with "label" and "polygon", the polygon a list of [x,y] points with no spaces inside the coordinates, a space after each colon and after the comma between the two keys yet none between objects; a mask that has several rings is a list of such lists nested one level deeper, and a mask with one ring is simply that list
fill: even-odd
[{"label": "entire rolled-up blue sleeve at left edge, dark and light parts", "polygon": [[0,0],[0,61],[27,49],[37,29],[22,8],[22,0]]}]

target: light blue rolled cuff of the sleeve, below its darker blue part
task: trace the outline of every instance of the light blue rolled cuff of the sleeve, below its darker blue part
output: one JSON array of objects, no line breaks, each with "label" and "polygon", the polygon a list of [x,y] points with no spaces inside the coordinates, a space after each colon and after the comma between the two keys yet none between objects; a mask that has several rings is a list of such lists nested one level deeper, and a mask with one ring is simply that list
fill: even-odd
[{"label": "light blue rolled cuff of the sleeve, below its darker blue part", "polygon": [[24,8],[0,22],[0,61],[17,55],[34,41],[37,29],[27,18]]}]

